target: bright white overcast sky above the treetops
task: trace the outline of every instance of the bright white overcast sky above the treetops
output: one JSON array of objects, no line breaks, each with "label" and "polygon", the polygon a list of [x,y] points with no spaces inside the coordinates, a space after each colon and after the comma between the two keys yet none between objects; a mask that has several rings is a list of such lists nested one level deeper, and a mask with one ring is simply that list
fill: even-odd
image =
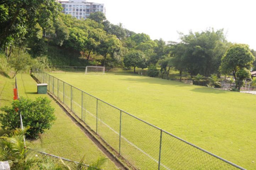
[{"label": "bright white overcast sky above the treetops", "polygon": [[224,28],[228,41],[256,50],[256,0],[88,0],[104,3],[106,17],[151,39],[179,41],[177,31]]}]

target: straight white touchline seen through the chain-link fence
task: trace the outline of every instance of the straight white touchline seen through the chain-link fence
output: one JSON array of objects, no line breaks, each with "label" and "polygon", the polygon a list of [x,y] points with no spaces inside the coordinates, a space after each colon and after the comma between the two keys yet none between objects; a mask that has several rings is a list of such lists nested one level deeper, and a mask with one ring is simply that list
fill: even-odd
[{"label": "straight white touchline seen through the chain-link fence", "polygon": [[[59,91],[59,93],[61,93],[63,95],[62,92]],[[71,98],[69,98],[68,96],[66,96],[64,94],[65,97],[67,97],[69,100],[71,100]],[[77,104],[78,107],[82,108],[82,106],[80,104],[78,104],[75,101],[72,101],[75,104]],[[64,103],[65,104],[65,103]],[[83,108],[83,110],[85,110],[85,112],[88,112],[91,116],[93,116],[95,119],[96,116],[93,115],[92,113],[90,113],[89,111],[87,111],[85,108]],[[101,123],[103,123],[105,126],[107,126],[110,130],[112,130],[113,132],[115,132],[115,134],[119,135],[119,133],[117,131],[115,131],[114,129],[112,129],[109,125],[107,125],[104,121],[102,121],[101,119],[98,118],[99,121],[101,121]],[[149,157],[150,159],[154,160],[157,164],[158,164],[158,160],[156,160],[155,158],[153,158],[151,155],[149,155],[148,153],[146,153],[145,151],[143,151],[142,149],[140,149],[138,146],[134,145],[132,142],[130,142],[127,138],[125,138],[124,136],[121,135],[121,138],[123,138],[126,142],[128,142],[130,145],[132,145],[133,147],[135,147],[136,149],[138,149],[141,153],[145,154],[147,157]],[[160,163],[161,166],[163,166],[165,169],[167,170],[171,170],[169,169],[166,165],[163,165],[162,163]]]}]

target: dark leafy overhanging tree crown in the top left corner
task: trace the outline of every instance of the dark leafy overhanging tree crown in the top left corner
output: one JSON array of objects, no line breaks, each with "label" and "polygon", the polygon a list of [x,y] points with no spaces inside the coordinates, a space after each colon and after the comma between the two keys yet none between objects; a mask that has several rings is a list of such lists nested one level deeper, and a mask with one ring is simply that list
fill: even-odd
[{"label": "dark leafy overhanging tree crown in the top left corner", "polygon": [[43,29],[50,26],[61,9],[60,4],[55,0],[2,0],[0,2],[0,46],[10,38],[15,41],[23,40],[37,23]]}]

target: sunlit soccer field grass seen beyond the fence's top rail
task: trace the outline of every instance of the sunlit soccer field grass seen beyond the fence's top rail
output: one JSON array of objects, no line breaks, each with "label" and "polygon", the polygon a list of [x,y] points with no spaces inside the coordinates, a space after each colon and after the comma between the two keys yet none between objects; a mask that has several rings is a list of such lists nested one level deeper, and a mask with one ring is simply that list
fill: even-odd
[{"label": "sunlit soccer field grass seen beyond the fence's top rail", "polygon": [[255,95],[123,73],[51,75],[235,164],[256,168]]}]

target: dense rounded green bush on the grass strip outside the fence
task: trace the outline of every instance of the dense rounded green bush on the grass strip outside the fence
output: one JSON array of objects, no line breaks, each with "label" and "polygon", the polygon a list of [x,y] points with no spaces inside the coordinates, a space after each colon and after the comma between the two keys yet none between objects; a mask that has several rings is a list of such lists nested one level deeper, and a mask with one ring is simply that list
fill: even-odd
[{"label": "dense rounded green bush on the grass strip outside the fence", "polygon": [[[23,126],[30,126],[27,135],[31,138],[38,138],[45,129],[50,129],[53,121],[56,119],[54,108],[50,105],[50,100],[46,97],[38,97],[35,101],[21,97],[20,100],[12,102],[12,106],[2,107],[0,114],[1,128],[8,130],[20,127],[20,115],[22,115]],[[18,112],[17,111],[18,108]]]}]

